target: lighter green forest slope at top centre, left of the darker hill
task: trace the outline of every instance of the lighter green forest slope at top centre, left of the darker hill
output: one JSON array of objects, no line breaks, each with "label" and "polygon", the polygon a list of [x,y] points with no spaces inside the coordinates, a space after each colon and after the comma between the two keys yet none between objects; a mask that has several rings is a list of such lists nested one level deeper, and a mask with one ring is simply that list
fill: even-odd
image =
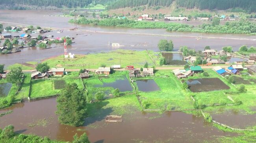
[{"label": "lighter green forest slope at top centre, left of the darker hill", "polygon": [[151,6],[165,6],[172,4],[173,0],[117,0],[108,5],[107,9],[118,9],[124,7],[137,7],[142,5]]}]

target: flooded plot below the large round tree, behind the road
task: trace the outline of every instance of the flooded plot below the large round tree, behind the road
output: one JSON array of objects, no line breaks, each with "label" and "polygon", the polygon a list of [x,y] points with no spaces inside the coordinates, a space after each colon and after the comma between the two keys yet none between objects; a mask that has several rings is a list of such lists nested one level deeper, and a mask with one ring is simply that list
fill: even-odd
[{"label": "flooded plot below the large round tree, behind the road", "polygon": [[185,65],[186,61],[183,61],[183,55],[179,52],[161,52],[165,57],[167,65]]}]

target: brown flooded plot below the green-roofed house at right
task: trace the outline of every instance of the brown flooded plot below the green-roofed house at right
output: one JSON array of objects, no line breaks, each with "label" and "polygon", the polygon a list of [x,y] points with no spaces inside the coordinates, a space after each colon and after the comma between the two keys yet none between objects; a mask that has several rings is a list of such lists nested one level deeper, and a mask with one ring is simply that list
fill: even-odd
[{"label": "brown flooded plot below the green-roofed house at right", "polygon": [[230,89],[219,78],[198,78],[193,80],[187,80],[189,90],[192,92],[203,92],[203,91],[217,91],[223,89]]}]

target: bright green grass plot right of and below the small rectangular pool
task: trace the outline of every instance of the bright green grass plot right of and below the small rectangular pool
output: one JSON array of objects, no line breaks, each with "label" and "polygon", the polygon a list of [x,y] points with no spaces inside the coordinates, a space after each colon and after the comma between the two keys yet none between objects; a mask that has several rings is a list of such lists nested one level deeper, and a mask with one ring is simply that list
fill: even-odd
[{"label": "bright green grass plot right of and below the small rectangular pool", "polygon": [[[166,73],[169,77],[164,76],[167,75]],[[170,71],[158,71],[154,81],[159,87],[158,91],[138,92],[145,109],[194,109],[192,100],[189,96],[186,96],[186,92],[181,88],[180,81]]]}]

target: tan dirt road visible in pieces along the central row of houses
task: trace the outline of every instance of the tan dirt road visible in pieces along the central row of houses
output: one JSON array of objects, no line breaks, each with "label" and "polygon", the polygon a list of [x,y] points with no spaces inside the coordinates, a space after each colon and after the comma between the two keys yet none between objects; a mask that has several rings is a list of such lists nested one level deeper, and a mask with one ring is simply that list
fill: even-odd
[{"label": "tan dirt road visible in pieces along the central row of houses", "polygon": [[[228,65],[220,65],[221,68],[226,68]],[[212,69],[214,66],[202,66],[202,69]],[[156,67],[157,70],[173,70],[173,69],[183,69],[182,66],[178,67]],[[65,69],[65,71],[72,72],[72,71],[79,71],[80,69]],[[90,71],[95,71],[97,69],[90,69]],[[23,70],[23,72],[31,72],[33,70]],[[128,69],[115,69],[115,71],[128,71]]]}]

